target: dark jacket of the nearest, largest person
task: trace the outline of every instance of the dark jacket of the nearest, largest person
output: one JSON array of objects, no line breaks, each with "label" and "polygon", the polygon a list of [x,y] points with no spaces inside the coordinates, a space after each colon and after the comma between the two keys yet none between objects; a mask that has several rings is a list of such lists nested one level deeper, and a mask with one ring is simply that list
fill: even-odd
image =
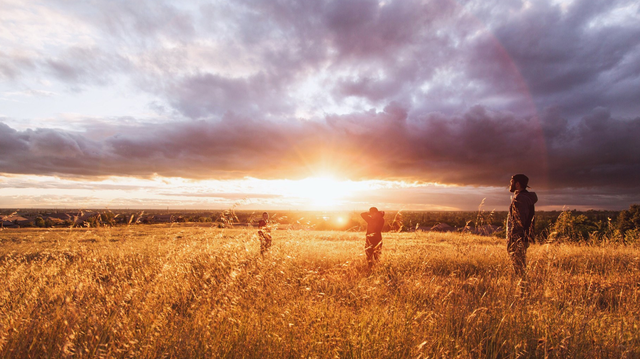
[{"label": "dark jacket of the nearest, largest person", "polygon": [[507,217],[508,241],[524,240],[527,243],[533,241],[532,224],[536,202],[538,202],[538,196],[535,192],[522,190],[514,194]]}]

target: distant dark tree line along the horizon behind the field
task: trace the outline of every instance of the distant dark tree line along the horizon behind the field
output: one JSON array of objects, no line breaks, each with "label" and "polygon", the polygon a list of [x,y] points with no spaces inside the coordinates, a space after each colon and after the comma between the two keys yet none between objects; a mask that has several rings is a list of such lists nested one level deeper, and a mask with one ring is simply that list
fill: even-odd
[{"label": "distant dark tree line along the horizon behind the field", "polygon": [[[63,215],[66,214],[66,217]],[[164,211],[105,210],[52,211],[0,210],[3,227],[104,227],[136,224],[199,223],[218,228],[255,224],[262,211]],[[274,226],[280,229],[353,230],[366,224],[357,211],[312,212],[272,211]],[[18,218],[18,219],[16,219]],[[446,225],[452,231],[505,235],[506,211],[430,211],[387,212],[385,231],[429,231]],[[489,227],[486,232],[478,231]],[[633,243],[640,239],[640,205],[623,211],[537,211],[536,238],[545,241],[617,241]]]}]

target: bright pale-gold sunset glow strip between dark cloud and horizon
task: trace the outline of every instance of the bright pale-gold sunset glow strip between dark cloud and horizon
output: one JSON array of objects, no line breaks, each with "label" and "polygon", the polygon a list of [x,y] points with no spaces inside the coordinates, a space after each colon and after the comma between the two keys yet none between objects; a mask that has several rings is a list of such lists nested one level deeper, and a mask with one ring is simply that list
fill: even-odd
[{"label": "bright pale-gold sunset glow strip between dark cloud and horizon", "polygon": [[[403,181],[351,181],[328,177],[300,180],[189,180],[155,176],[148,179],[109,177],[102,180],[50,176],[0,176],[0,201],[5,208],[170,208],[244,210],[474,211],[484,200],[486,210],[508,205],[506,186],[469,187]],[[539,192],[540,193],[540,192]],[[544,193],[544,192],[541,192]],[[596,200],[573,208],[593,208]],[[562,210],[566,199],[549,200],[540,209]],[[605,203],[605,202],[603,202]]]}]

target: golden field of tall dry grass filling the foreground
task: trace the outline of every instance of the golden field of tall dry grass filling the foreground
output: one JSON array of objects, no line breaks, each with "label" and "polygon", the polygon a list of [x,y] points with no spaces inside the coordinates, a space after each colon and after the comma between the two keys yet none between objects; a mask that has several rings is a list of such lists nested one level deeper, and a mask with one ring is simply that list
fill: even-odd
[{"label": "golden field of tall dry grass filling the foreground", "polygon": [[0,231],[0,357],[637,358],[640,248],[121,227]]}]

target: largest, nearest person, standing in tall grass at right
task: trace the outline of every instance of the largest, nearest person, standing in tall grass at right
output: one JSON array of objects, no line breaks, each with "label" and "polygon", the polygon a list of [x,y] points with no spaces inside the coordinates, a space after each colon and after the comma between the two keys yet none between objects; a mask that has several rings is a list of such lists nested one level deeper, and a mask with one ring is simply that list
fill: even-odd
[{"label": "largest, nearest person, standing in tall grass at right", "polygon": [[514,175],[509,184],[513,196],[507,217],[507,252],[516,275],[521,278],[527,267],[527,248],[534,240],[535,204],[538,202],[535,192],[527,191],[528,184],[529,178],[524,174]]}]

